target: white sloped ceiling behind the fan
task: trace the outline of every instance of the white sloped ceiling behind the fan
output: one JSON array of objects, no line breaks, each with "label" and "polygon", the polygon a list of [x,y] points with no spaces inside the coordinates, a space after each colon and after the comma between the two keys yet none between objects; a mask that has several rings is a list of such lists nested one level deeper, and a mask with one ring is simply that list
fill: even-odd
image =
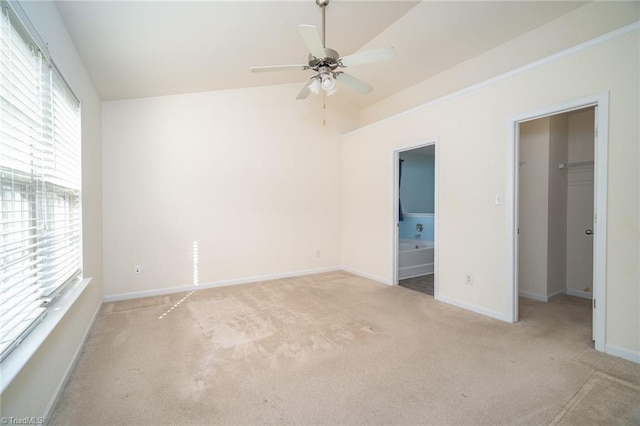
[{"label": "white sloped ceiling behind the fan", "polygon": [[[251,73],[306,64],[298,24],[321,27],[314,0],[56,1],[103,100],[300,83],[312,71]],[[327,7],[326,45],[342,56],[394,46],[391,62],[349,68],[374,86],[371,105],[551,21],[576,1],[347,1]]]}]

